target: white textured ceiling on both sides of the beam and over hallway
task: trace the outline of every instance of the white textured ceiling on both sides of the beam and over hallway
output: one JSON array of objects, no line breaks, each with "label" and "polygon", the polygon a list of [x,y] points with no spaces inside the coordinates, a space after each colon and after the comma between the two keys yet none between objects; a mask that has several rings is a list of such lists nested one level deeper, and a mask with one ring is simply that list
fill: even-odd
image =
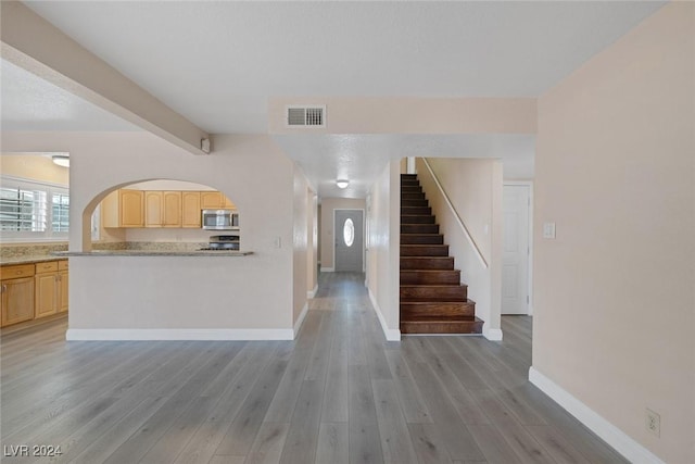
[{"label": "white textured ceiling on both sides of the beam and over hallway", "polygon": [[[26,4],[204,130],[266,133],[270,97],[536,97],[664,3]],[[4,128],[124,129],[122,120],[97,117],[79,99],[36,80],[4,64]],[[376,159],[406,152],[414,139],[421,148],[415,151],[430,153],[442,147],[468,153],[470,143],[482,143],[465,136],[277,139],[317,185],[334,179],[351,158],[355,186],[370,184],[383,166]],[[491,140],[472,151],[500,153],[483,150],[497,143]],[[528,147],[528,140],[498,143],[513,152]],[[320,196],[328,193],[319,189]]]}]

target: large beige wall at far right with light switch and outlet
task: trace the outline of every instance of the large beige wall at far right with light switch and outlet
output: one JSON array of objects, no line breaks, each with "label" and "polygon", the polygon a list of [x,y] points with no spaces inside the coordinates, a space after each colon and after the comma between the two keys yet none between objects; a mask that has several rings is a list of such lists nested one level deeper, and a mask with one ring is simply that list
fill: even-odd
[{"label": "large beige wall at far right with light switch and outlet", "polygon": [[533,368],[668,463],[695,462],[694,20],[667,4],[539,100]]}]

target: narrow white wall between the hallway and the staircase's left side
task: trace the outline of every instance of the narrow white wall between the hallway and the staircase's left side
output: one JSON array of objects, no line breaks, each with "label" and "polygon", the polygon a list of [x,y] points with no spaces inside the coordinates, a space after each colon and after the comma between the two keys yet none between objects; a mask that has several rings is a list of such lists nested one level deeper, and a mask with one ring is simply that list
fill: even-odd
[{"label": "narrow white wall between the hallway and the staircase's left side", "polygon": [[401,162],[393,160],[367,198],[367,287],[388,340],[401,339],[399,297],[401,250]]}]

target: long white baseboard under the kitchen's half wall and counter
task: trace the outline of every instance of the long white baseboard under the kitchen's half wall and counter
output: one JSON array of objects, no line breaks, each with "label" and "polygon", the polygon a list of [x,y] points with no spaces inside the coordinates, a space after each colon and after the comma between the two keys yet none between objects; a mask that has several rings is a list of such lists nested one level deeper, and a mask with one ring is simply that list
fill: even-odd
[{"label": "long white baseboard under the kitchen's half wall and counter", "polygon": [[65,339],[99,341],[136,340],[294,340],[287,328],[70,328]]}]

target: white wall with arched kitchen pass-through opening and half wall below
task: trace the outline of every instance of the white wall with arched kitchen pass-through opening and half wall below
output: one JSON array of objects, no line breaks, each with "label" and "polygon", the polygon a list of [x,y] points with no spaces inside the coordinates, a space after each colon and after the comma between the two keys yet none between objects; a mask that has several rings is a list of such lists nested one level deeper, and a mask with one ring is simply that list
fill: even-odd
[{"label": "white wall with arched kitchen pass-through opening and half wall below", "polygon": [[[293,164],[269,137],[218,136],[217,151],[200,156],[147,133],[5,133],[2,143],[13,151],[71,152],[74,225],[83,214],[89,218],[110,189],[155,178],[218,189],[235,199],[244,218],[251,256],[71,258],[71,330],[292,337]],[[90,246],[84,233],[71,228],[72,251]]]}]

